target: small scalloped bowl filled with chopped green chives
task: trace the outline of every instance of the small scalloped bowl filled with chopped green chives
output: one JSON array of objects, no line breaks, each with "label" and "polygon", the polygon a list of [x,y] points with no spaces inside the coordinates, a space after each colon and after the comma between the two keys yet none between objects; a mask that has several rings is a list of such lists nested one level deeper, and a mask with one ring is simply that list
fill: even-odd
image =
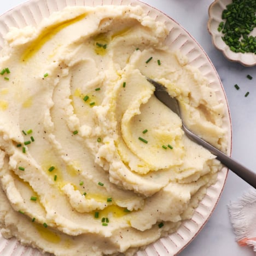
[{"label": "small scalloped bowl filled with chopped green chives", "polygon": [[256,1],[216,0],[208,9],[208,32],[230,61],[256,65]]}]

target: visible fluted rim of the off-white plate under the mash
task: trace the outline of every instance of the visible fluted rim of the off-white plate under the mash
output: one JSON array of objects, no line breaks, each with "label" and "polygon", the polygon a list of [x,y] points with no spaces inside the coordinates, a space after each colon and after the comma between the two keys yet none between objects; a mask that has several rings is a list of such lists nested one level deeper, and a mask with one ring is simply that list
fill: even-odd
[{"label": "visible fluted rim of the off-white plate under the mash", "polygon": [[[170,49],[180,49],[183,54],[188,56],[190,65],[200,69],[201,73],[210,82],[210,86],[216,90],[219,101],[224,103],[225,106],[225,120],[224,126],[226,127],[228,141],[228,154],[231,153],[231,121],[228,102],[226,101],[225,92],[212,62],[202,50],[201,46],[195,41],[190,34],[184,30],[176,21],[166,16],[159,10],[156,10],[149,5],[139,2],[137,0],[31,0],[18,7],[8,11],[0,16],[0,50],[3,47],[3,36],[9,30],[9,27],[24,27],[26,25],[36,26],[43,18],[49,16],[53,11],[61,10],[67,5],[103,5],[103,4],[131,4],[141,5],[147,11],[149,16],[155,20],[165,22],[170,35],[166,43]],[[207,189],[206,196],[199,203],[193,217],[182,223],[177,232],[163,237],[152,245],[146,247],[144,251],[137,252],[138,256],[144,255],[174,255],[181,252],[182,249],[193,240],[193,238],[202,229],[203,225],[210,218],[211,213],[216,206],[226,181],[228,170],[223,168],[218,173],[216,184]],[[30,256],[41,255],[36,249],[24,247],[15,239],[5,240],[0,235],[0,255],[15,255],[15,256]]]}]

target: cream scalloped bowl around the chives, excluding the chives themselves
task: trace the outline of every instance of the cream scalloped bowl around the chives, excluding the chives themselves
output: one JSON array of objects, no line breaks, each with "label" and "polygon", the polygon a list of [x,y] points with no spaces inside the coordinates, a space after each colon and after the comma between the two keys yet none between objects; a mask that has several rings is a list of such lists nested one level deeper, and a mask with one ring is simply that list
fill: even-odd
[{"label": "cream scalloped bowl around the chives, excluding the chives themselves", "polygon": [[[217,49],[222,51],[224,56],[230,60],[239,62],[244,66],[256,65],[256,54],[254,53],[234,53],[229,49],[229,46],[225,44],[222,39],[222,32],[218,31],[219,23],[222,21],[222,11],[226,9],[226,5],[232,3],[232,0],[215,0],[208,9],[208,23],[207,28],[212,36],[212,42]],[[256,34],[254,28],[253,36]]]}]

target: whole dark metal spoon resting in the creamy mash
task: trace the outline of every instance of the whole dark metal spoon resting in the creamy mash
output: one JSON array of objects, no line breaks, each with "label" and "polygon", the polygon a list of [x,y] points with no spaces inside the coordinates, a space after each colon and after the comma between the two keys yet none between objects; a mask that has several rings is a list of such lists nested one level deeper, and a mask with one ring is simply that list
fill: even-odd
[{"label": "whole dark metal spoon resting in the creamy mash", "polygon": [[[176,98],[172,98],[170,95],[168,95],[168,92],[166,91],[165,86],[159,84],[153,79],[147,78],[148,82],[153,84],[155,86],[155,96],[160,100],[162,103],[164,103],[168,108],[170,108],[174,113],[179,115],[182,119],[181,112],[179,111],[179,104]],[[245,166],[242,166],[238,162],[236,162],[234,159],[230,158],[228,155],[221,152],[219,149],[213,147],[208,142],[204,141],[199,136],[195,135],[195,133],[191,132],[183,123],[182,120],[182,128],[185,132],[185,134],[195,141],[196,143],[200,144],[204,148],[208,149],[213,155],[216,155],[216,158],[222,162],[223,165],[228,167],[232,172],[236,173],[240,178],[242,178],[244,181],[246,181],[248,184],[252,185],[252,187],[256,188],[256,173],[252,172]]]}]

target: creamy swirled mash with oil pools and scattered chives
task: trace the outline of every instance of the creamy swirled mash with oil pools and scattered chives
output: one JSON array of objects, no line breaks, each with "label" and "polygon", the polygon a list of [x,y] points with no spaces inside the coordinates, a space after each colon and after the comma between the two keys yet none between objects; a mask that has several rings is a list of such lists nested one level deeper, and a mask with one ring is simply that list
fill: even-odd
[{"label": "creamy swirled mash with oil pools and scattered chives", "polygon": [[55,255],[126,253],[174,232],[221,166],[223,104],[141,7],[68,7],[11,28],[1,53],[0,227]]}]

